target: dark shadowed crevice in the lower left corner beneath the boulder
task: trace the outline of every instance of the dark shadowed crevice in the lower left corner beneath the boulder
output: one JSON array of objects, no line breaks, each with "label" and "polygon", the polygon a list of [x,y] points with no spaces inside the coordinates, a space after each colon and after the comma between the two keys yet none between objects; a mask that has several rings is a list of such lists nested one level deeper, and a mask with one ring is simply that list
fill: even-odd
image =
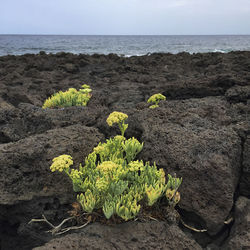
[{"label": "dark shadowed crevice in the lower left corner beneath the boulder", "polygon": [[0,205],[0,249],[30,250],[51,240],[53,236],[45,232],[50,229],[46,224],[28,222],[44,214],[59,224],[71,209],[70,201],[64,200],[64,197],[35,197],[15,205]]}]

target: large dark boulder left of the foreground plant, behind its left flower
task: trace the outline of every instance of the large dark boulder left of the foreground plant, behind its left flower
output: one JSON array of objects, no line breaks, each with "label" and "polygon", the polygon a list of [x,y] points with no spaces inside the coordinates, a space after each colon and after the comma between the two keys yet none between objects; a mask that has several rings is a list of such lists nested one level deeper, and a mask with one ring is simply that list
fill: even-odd
[{"label": "large dark boulder left of the foreground plant, behind its left flower", "polygon": [[94,128],[72,125],[0,145],[0,205],[37,196],[72,196],[68,177],[50,172],[52,159],[69,154],[77,165],[102,138]]}]

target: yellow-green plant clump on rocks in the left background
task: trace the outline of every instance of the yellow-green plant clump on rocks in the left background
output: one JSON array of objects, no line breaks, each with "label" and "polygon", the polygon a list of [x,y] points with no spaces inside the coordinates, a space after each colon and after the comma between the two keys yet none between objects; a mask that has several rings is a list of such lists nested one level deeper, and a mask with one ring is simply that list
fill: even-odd
[{"label": "yellow-green plant clump on rocks in the left background", "polygon": [[75,88],[69,88],[67,91],[59,91],[49,97],[43,104],[43,108],[63,108],[71,106],[87,106],[91,91],[89,85],[84,84],[78,91]]}]

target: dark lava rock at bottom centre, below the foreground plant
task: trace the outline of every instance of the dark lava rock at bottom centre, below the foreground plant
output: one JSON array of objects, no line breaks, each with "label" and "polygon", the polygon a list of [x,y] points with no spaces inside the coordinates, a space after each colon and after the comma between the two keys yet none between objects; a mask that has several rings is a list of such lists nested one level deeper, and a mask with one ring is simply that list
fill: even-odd
[{"label": "dark lava rock at bottom centre, below the foreground plant", "polygon": [[53,239],[45,249],[202,249],[177,226],[163,222],[129,222],[115,226],[89,225],[79,233]]}]

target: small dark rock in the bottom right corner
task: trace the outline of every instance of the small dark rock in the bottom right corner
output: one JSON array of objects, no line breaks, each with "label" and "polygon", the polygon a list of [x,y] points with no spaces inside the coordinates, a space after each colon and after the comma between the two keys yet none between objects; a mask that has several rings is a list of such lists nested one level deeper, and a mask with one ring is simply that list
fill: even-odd
[{"label": "small dark rock in the bottom right corner", "polygon": [[250,249],[250,200],[239,197],[235,207],[235,222],[222,249]]}]

